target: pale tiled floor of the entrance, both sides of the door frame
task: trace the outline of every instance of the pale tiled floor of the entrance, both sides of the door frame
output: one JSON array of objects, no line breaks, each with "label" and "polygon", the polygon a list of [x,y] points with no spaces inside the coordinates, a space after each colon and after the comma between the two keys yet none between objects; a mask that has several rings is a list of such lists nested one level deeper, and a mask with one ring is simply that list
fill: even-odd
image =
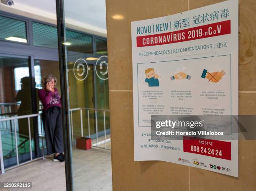
[{"label": "pale tiled floor of the entrance, both sides of the door frame", "polygon": [[[111,154],[109,150],[74,148],[74,191],[112,191]],[[0,175],[0,182],[32,182],[30,191],[66,191],[64,163],[52,157],[13,168]],[[0,191],[24,191],[1,189]]]}]

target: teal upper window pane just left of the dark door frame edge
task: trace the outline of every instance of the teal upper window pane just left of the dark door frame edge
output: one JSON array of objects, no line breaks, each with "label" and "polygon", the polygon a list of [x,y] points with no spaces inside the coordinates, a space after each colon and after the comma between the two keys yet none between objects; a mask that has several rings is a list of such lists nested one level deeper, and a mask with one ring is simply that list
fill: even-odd
[{"label": "teal upper window pane just left of the dark door frame edge", "polygon": [[50,25],[33,22],[34,46],[58,48],[57,28]]}]

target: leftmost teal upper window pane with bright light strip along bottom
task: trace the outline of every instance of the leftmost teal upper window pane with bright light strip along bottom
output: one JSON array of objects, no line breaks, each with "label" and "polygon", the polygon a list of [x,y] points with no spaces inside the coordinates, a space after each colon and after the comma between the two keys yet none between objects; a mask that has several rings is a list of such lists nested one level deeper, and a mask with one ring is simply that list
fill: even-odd
[{"label": "leftmost teal upper window pane with bright light strip along bottom", "polygon": [[25,21],[0,16],[0,28],[1,39],[27,43]]}]

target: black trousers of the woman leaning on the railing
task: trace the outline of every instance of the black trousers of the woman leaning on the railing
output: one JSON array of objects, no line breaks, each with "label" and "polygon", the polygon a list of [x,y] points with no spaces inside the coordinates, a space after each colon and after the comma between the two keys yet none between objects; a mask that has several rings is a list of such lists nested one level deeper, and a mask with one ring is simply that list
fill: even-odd
[{"label": "black trousers of the woman leaning on the railing", "polygon": [[64,152],[61,108],[54,106],[43,111],[42,120],[46,136],[47,154]]}]

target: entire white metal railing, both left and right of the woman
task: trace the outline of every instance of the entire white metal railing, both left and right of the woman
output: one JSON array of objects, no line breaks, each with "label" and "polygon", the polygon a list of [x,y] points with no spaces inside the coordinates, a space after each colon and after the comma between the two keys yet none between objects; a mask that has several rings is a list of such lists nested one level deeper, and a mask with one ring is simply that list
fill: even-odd
[{"label": "entire white metal railing, both left and right of the woman", "polygon": [[[85,107],[79,107],[79,108],[74,108],[74,109],[70,109],[70,118],[71,118],[71,132],[72,132],[72,147],[74,146],[74,131],[73,131],[73,112],[74,111],[79,111],[80,110],[80,122],[81,122],[81,137],[84,137],[84,128],[83,128],[83,110],[87,111],[87,118],[88,118],[88,136],[89,138],[91,137],[90,134],[90,111],[95,111],[95,128],[96,128],[96,143],[93,144],[92,146],[94,147],[99,147],[100,143],[102,143],[102,141],[98,141],[98,120],[97,120],[97,112],[103,112],[103,124],[104,124],[104,141],[103,143],[105,143],[105,149],[107,149],[107,142],[110,141],[110,138],[107,139],[106,138],[106,112],[109,112],[109,110],[104,110],[104,109],[94,109],[94,108],[85,108]],[[21,116],[15,116],[15,117],[8,117],[8,118],[2,118],[0,119],[0,122],[4,122],[4,121],[11,121],[13,120],[13,127],[14,127],[14,135],[15,135],[15,152],[16,152],[16,160],[17,160],[17,164],[15,166],[6,168],[10,169],[10,168],[14,168],[16,166],[19,166],[20,164],[25,164],[25,163],[29,163],[33,160],[38,160],[40,158],[44,158],[44,149],[43,149],[43,156],[39,157],[39,158],[35,158],[33,159],[32,156],[32,143],[31,143],[31,125],[30,125],[30,118],[31,117],[38,117],[40,116],[40,126],[41,126],[41,136],[42,136],[42,119],[41,119],[41,114],[32,114],[32,115],[21,115]],[[19,153],[18,153],[18,140],[17,140],[17,128],[16,128],[16,123],[15,120],[19,120],[19,119],[28,119],[28,134],[29,134],[29,147],[30,147],[30,160],[20,163],[19,162]],[[11,129],[12,131],[12,129]],[[44,143],[43,143],[43,139],[42,139],[42,147],[44,148]],[[101,148],[101,147],[100,147]],[[13,151],[14,151],[13,150]],[[1,166],[1,173],[5,173],[5,168],[4,168],[4,160],[3,160],[3,145],[2,145],[2,134],[1,134],[1,128],[0,128],[0,166]]]}]

